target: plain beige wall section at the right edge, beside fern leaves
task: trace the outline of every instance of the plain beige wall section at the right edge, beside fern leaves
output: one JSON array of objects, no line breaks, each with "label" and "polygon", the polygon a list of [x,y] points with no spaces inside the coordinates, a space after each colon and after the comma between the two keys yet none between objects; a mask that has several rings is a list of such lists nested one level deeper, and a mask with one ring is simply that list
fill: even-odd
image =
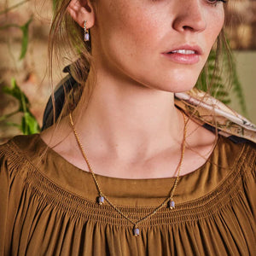
[{"label": "plain beige wall section at the right edge, beside fern leaves", "polygon": [[[256,124],[256,51],[235,51],[236,69],[247,102],[247,118]],[[236,100],[230,104],[231,108],[241,112]]]}]

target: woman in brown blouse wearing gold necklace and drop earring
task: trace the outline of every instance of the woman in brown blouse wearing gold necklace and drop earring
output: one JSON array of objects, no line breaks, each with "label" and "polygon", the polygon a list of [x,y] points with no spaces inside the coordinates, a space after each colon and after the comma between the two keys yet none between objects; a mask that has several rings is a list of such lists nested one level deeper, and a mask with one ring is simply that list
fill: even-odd
[{"label": "woman in brown blouse wearing gold necklace and drop earring", "polygon": [[0,255],[256,253],[254,144],[174,102],[195,86],[224,2],[57,2],[53,32],[66,11],[84,28],[80,84],[90,72],[73,111],[1,147]]}]

